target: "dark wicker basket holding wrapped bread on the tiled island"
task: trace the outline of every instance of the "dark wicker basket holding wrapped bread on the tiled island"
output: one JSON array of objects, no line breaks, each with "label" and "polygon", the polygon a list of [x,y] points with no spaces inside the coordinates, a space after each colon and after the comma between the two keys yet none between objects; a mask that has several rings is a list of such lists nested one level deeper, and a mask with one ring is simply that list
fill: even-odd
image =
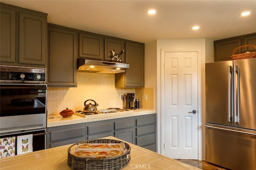
[{"label": "dark wicker basket holding wrapped bread on the tiled island", "polygon": [[80,143],[121,143],[122,141],[117,141],[114,139],[94,139],[89,141],[83,141],[75,143],[68,148],[68,166],[72,170],[119,170],[124,168],[130,162],[130,150],[131,147],[125,144],[126,152],[120,156],[111,158],[80,158],[74,156],[70,153],[70,150],[74,149],[76,145]]}]

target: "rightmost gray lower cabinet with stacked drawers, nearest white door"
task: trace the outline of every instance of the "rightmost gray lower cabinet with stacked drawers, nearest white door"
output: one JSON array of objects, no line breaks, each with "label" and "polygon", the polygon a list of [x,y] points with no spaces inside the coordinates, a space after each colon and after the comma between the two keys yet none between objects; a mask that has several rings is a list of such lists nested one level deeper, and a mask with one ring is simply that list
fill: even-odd
[{"label": "rightmost gray lower cabinet with stacked drawers, nearest white door", "polygon": [[156,151],[156,115],[136,116],[136,145]]}]

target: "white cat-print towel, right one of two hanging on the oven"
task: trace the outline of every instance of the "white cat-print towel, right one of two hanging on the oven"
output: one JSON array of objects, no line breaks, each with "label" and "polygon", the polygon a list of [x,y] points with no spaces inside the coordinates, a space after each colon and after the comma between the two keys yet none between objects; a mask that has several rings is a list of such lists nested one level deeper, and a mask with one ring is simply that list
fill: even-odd
[{"label": "white cat-print towel, right one of two hanging on the oven", "polygon": [[17,137],[17,154],[33,152],[33,135],[22,135]]}]

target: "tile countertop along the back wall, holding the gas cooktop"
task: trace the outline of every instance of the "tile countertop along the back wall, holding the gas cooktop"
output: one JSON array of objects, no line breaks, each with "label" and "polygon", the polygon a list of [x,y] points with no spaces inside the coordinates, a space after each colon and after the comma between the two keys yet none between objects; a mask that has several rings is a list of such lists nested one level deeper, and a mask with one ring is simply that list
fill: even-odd
[{"label": "tile countertop along the back wall, holding the gas cooktop", "polygon": [[112,113],[108,115],[102,114],[102,116],[95,116],[95,117],[82,117],[79,115],[72,115],[72,117],[62,117],[60,114],[54,114],[54,115],[48,115],[47,127],[71,125],[71,124],[77,124],[77,123],[117,119],[122,117],[131,117],[131,116],[139,116],[139,115],[147,115],[147,114],[155,114],[155,113],[156,113],[156,110],[135,109],[135,110],[129,110],[125,113],[117,112],[117,113]]}]

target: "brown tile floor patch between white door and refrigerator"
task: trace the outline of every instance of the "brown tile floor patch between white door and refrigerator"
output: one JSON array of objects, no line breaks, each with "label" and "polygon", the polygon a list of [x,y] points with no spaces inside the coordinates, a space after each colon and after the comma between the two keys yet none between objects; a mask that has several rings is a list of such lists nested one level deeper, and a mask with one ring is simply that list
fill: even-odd
[{"label": "brown tile floor patch between white door and refrigerator", "polygon": [[227,170],[223,167],[201,161],[201,160],[189,160],[189,159],[178,159],[180,162],[195,166],[196,168],[200,168],[202,170]]}]

